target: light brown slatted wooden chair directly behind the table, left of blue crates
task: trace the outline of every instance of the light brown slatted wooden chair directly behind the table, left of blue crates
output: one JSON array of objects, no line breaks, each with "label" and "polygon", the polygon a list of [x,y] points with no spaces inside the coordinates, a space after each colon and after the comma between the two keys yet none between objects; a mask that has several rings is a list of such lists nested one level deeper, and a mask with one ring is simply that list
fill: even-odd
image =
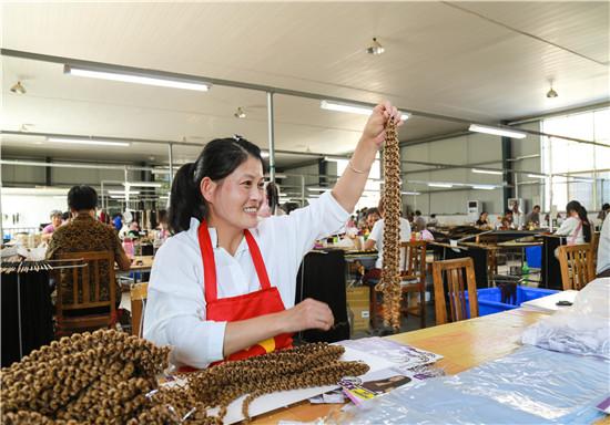
[{"label": "light brown slatted wooden chair directly behind the table, left of blue crates", "polygon": [[[443,272],[447,276],[448,290],[445,290]],[[447,305],[445,298],[449,301],[450,321],[468,319],[466,312],[466,297],[464,274],[468,290],[470,305],[470,319],[479,315],[479,303],[477,299],[477,281],[475,278],[475,263],[470,257],[456,258],[454,260],[436,261],[433,265],[433,279],[435,290],[436,324],[447,323]]]}]

